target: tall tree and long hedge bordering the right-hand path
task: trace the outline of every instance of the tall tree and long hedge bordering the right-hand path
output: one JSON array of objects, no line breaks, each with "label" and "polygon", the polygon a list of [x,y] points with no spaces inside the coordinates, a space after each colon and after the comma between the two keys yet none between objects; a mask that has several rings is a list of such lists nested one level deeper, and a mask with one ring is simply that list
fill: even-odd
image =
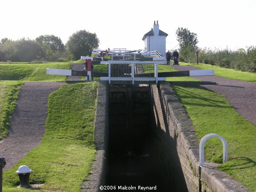
[{"label": "tall tree and long hedge bordering the right-hand path", "polygon": [[251,46],[236,51],[220,49],[199,48],[197,34],[190,32],[186,28],[176,30],[177,40],[179,41],[180,60],[189,63],[196,63],[196,50],[200,63],[215,65],[228,69],[235,69],[247,72],[256,72],[256,47]]}]

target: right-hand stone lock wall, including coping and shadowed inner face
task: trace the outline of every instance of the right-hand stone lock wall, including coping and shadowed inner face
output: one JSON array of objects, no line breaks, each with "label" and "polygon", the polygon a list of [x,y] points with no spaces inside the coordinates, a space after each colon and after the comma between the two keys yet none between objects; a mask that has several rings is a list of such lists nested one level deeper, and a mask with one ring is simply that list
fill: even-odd
[{"label": "right-hand stone lock wall, including coping and shadowed inner face", "polygon": [[152,85],[156,139],[156,160],[164,168],[162,177],[176,191],[249,191],[241,183],[221,172],[213,163],[205,163],[199,179],[199,141],[169,82]]}]

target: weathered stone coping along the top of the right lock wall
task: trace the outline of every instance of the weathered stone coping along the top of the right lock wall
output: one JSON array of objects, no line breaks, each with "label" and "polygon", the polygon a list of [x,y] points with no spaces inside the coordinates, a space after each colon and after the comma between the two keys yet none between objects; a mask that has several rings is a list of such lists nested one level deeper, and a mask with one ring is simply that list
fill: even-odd
[{"label": "weathered stone coping along the top of the right lock wall", "polygon": [[[191,166],[199,175],[199,140],[196,136],[193,122],[180,103],[170,82],[159,83],[162,98],[168,106],[168,113],[174,119],[175,131],[180,135],[185,153],[191,161]],[[214,191],[250,191],[240,182],[216,168],[214,163],[205,163],[201,170],[201,180]]]}]

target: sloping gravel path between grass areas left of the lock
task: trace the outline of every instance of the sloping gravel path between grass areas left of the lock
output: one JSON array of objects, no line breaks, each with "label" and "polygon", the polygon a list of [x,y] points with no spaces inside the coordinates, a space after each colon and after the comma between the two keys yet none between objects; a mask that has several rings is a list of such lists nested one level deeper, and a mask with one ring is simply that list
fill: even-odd
[{"label": "sloping gravel path between grass areas left of the lock", "polygon": [[48,96],[64,82],[26,82],[20,89],[9,134],[0,143],[8,169],[40,144],[45,132]]}]

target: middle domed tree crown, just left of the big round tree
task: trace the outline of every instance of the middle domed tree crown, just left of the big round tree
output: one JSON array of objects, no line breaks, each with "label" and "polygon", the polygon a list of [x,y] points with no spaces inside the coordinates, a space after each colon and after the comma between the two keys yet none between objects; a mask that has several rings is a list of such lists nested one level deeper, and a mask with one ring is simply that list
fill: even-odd
[{"label": "middle domed tree crown, just left of the big round tree", "polygon": [[35,39],[38,41],[42,47],[49,47],[53,52],[59,51],[63,52],[64,44],[62,43],[61,39],[54,35],[40,35]]}]

